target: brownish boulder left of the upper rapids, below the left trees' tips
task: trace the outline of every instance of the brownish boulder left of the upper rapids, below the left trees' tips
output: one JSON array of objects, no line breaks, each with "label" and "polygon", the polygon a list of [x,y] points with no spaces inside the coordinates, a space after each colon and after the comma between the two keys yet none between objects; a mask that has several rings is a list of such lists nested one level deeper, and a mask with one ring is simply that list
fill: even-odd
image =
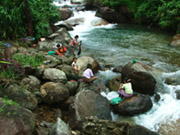
[{"label": "brownish boulder left of the upper rapids, below the left trees' tips", "polygon": [[72,10],[70,10],[69,8],[59,8],[59,12],[61,15],[61,20],[67,20],[73,15]]}]

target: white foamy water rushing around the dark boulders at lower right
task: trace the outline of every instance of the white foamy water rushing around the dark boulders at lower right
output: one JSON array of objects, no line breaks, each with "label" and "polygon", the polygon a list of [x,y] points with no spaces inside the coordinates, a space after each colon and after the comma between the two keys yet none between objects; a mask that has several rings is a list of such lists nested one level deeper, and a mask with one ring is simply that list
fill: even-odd
[{"label": "white foamy water rushing around the dark boulders at lower right", "polygon": [[[163,74],[163,76],[166,77],[173,75],[180,75],[180,71]],[[136,124],[145,126],[153,131],[158,131],[161,124],[168,124],[168,122],[178,120],[180,118],[180,102],[176,99],[175,91],[180,90],[180,85],[164,85],[165,94],[158,93],[161,97],[159,102],[154,102],[154,98],[151,97],[153,101],[153,107],[150,111],[127,119],[133,118]],[[106,97],[108,100],[111,100],[118,96],[117,92],[102,92],[101,95]],[[113,120],[117,121],[119,119],[117,114],[114,114],[113,112],[111,113],[113,116]]]}]

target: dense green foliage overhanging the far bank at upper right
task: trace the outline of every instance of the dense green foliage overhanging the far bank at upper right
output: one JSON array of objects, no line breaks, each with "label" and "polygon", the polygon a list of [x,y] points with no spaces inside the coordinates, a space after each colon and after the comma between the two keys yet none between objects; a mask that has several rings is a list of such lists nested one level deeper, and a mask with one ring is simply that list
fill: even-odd
[{"label": "dense green foliage overhanging the far bank at upper right", "polygon": [[137,22],[154,24],[162,29],[180,32],[179,0],[87,0],[88,3],[119,10],[125,5]]}]

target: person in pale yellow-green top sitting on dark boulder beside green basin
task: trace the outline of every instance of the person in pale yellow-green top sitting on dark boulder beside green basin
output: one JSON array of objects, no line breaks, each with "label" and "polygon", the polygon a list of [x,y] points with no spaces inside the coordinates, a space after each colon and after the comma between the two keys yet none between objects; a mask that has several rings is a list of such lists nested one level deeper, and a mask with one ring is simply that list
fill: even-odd
[{"label": "person in pale yellow-green top sitting on dark boulder beside green basin", "polygon": [[133,96],[133,89],[130,81],[131,79],[124,78],[123,83],[119,86],[118,93],[120,97],[123,97],[123,99]]}]

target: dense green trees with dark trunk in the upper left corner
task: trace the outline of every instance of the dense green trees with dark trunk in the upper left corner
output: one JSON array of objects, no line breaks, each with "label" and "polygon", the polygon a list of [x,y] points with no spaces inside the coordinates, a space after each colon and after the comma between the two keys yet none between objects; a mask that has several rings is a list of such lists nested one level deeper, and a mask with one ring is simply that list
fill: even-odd
[{"label": "dense green trees with dark trunk in the upper left corner", "polygon": [[52,0],[1,0],[0,18],[1,39],[27,35],[39,39],[49,34],[50,24],[58,21],[60,15]]}]

